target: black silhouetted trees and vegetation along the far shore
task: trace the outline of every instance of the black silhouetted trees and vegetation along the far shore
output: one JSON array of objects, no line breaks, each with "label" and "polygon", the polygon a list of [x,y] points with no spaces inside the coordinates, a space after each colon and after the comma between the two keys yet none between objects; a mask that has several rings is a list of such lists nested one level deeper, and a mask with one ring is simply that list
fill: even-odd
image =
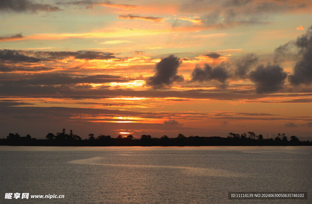
[{"label": "black silhouetted trees and vegetation along the far shore", "polygon": [[169,138],[164,135],[160,138],[153,138],[150,135],[142,135],[140,139],[134,139],[132,135],[111,137],[102,135],[95,137],[90,133],[87,139],[73,134],[71,130],[66,134],[62,132],[48,133],[46,139],[32,138],[30,135],[21,137],[18,133],[9,133],[6,139],[0,139],[2,146],[312,146],[312,141],[299,141],[296,136],[291,136],[290,140],[285,134],[278,133],[264,139],[263,136],[254,132],[235,134],[230,132],[227,137],[185,137],[178,134],[178,137]]}]

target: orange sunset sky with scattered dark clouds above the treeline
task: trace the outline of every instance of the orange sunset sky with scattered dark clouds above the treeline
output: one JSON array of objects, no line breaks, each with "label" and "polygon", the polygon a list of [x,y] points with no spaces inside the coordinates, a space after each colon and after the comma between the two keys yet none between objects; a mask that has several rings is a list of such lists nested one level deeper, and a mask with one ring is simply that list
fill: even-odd
[{"label": "orange sunset sky with scattered dark clouds above the treeline", "polygon": [[312,1],[0,0],[0,137],[312,139]]}]

